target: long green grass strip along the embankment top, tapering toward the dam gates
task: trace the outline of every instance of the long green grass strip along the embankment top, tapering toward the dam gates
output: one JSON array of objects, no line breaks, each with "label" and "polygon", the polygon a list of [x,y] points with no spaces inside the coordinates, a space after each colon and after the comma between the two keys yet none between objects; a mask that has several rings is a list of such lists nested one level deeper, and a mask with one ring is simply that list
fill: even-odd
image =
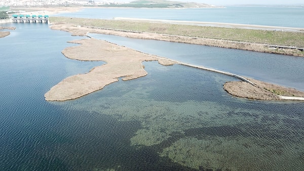
[{"label": "long green grass strip along the embankment top, tapering toward the dam gates", "polygon": [[69,23],[82,26],[154,32],[197,38],[261,43],[280,46],[296,46],[301,48],[304,47],[303,32],[68,17],[50,17],[49,20],[51,23]]}]

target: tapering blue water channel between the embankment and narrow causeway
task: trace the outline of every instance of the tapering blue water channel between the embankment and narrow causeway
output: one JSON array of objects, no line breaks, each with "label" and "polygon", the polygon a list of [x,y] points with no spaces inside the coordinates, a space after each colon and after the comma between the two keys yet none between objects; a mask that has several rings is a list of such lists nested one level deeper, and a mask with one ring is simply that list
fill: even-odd
[{"label": "tapering blue water channel between the embankment and narrow causeway", "polygon": [[304,90],[304,58],[90,33],[141,52]]}]

